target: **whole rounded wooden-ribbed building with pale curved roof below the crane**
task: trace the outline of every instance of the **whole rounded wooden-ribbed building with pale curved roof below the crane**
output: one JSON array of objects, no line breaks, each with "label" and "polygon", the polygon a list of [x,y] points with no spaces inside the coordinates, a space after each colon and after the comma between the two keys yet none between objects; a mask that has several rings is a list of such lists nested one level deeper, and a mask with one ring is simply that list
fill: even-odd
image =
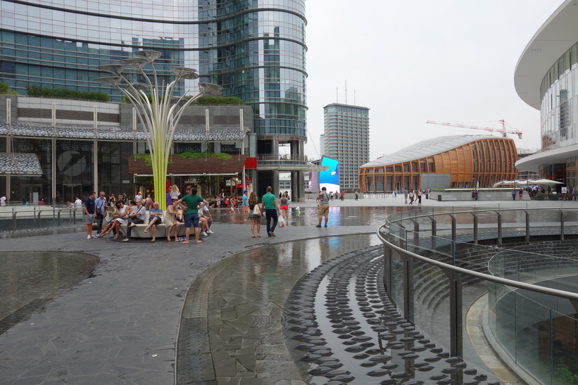
[{"label": "whole rounded wooden-ribbed building with pale curved roof below the crane", "polygon": [[[362,165],[359,187],[366,192],[491,187],[494,182],[516,179],[516,161],[516,147],[510,138],[489,135],[437,137]],[[444,181],[446,185],[431,185],[436,180]],[[428,185],[423,185],[426,183]]]}]

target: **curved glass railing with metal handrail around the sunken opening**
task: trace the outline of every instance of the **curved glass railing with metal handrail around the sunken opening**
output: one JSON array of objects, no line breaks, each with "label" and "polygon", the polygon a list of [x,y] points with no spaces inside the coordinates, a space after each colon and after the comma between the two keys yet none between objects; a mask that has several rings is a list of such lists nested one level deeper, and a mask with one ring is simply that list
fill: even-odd
[{"label": "curved glass railing with metal handrail around the sunken opening", "polygon": [[482,308],[486,337],[519,377],[578,383],[578,242],[566,239],[576,235],[578,208],[396,213],[378,230],[384,284],[403,316],[452,355],[484,366],[465,332],[467,312]]}]

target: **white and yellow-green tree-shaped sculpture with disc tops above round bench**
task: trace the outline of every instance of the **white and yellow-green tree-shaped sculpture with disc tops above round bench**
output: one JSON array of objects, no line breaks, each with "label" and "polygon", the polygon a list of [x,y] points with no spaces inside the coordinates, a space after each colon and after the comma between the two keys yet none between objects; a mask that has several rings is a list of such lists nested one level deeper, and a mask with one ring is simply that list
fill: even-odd
[{"label": "white and yellow-green tree-shaped sculpture with disc tops above round bench", "polygon": [[[167,179],[168,156],[172,147],[172,139],[184,109],[201,96],[220,96],[222,87],[217,84],[199,83],[199,94],[185,99],[182,96],[172,96],[180,80],[197,79],[196,70],[184,67],[169,67],[175,74],[175,80],[169,84],[158,84],[154,61],[161,57],[158,51],[136,51],[138,58],[122,59],[120,64],[99,65],[97,70],[110,72],[115,76],[98,77],[94,82],[109,84],[124,94],[137,111],[143,126],[146,144],[151,152],[153,167],[153,185],[155,200],[161,208],[166,208],[165,183]],[[146,75],[143,68],[151,65],[152,79]],[[122,75],[125,66],[135,68],[146,79],[145,83],[131,83]],[[150,91],[150,99],[146,91]]]}]

